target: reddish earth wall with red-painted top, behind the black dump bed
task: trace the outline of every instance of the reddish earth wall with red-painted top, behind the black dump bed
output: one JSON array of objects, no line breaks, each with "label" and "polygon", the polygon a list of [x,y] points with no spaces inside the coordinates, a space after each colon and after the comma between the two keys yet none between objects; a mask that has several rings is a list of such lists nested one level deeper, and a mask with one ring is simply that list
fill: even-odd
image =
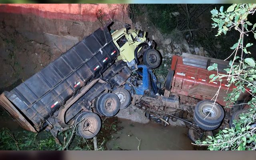
[{"label": "reddish earth wall with red-painted top, behind the black dump bed", "polygon": [[131,24],[127,5],[0,4],[0,93],[111,21],[113,29]]}]

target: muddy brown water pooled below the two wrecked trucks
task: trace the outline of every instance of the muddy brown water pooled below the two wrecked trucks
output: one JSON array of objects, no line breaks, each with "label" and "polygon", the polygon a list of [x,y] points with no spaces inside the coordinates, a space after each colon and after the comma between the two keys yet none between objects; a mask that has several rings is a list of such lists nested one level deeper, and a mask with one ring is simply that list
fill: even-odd
[{"label": "muddy brown water pooled below the two wrecked trucks", "polygon": [[194,150],[187,137],[188,128],[119,120],[118,126],[123,129],[112,134],[112,140],[107,142],[108,150],[138,150],[139,140],[140,150]]}]

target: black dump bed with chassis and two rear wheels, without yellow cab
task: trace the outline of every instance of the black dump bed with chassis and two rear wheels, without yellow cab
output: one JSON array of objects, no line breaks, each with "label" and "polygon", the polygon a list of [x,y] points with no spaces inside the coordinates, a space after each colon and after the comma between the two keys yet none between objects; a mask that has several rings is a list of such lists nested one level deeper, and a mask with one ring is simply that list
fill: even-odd
[{"label": "black dump bed with chassis and two rear wheels, without yellow cab", "polygon": [[94,112],[103,116],[118,112],[120,100],[110,91],[132,73],[124,61],[116,60],[119,54],[108,28],[99,28],[40,72],[2,93],[0,104],[26,130],[46,128],[56,138],[58,132],[77,126],[80,136],[92,138],[101,127]]}]

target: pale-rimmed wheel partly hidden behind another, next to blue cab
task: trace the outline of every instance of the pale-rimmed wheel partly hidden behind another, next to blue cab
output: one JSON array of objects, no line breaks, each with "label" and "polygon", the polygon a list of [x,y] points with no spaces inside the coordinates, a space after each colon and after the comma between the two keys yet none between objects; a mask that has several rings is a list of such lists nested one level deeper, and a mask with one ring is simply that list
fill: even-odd
[{"label": "pale-rimmed wheel partly hidden behind another, next to blue cab", "polygon": [[120,100],[120,110],[123,110],[130,105],[132,96],[128,90],[124,88],[117,88],[112,93],[116,94]]}]

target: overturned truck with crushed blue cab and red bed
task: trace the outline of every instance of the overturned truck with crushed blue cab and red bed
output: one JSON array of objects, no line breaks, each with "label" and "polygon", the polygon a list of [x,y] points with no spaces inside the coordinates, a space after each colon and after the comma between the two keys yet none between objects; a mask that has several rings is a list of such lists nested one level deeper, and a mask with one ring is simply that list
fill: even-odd
[{"label": "overturned truck with crushed blue cab and red bed", "polygon": [[230,108],[223,108],[227,106],[224,97],[236,86],[227,80],[220,84],[209,78],[217,74],[207,70],[214,63],[218,64],[218,72],[225,74],[229,64],[223,60],[187,53],[174,55],[164,90],[159,88],[150,68],[143,65],[138,66],[138,75],[129,78],[124,88],[132,94],[132,105],[146,111],[148,119],[164,126],[182,120],[189,128],[189,138],[195,142],[212,136],[212,130],[234,127],[239,114],[248,111],[251,90],[242,93]]}]

